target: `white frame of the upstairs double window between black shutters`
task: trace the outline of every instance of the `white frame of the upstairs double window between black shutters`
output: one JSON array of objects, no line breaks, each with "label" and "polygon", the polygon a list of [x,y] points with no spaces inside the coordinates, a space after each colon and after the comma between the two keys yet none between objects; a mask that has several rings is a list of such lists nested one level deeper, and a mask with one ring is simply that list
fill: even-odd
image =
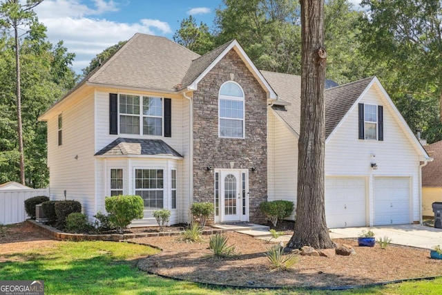
[{"label": "white frame of the upstairs double window between black shutters", "polygon": [[[142,95],[142,94],[137,94],[137,93],[117,93],[118,95],[118,99],[117,99],[117,124],[118,124],[118,134],[124,134],[124,135],[138,135],[138,136],[155,136],[155,137],[164,137],[164,102],[166,97],[164,96],[155,96],[155,95]],[[138,115],[134,115],[134,114],[126,114],[126,113],[121,113],[120,112],[120,95],[133,95],[133,96],[137,96],[139,97],[139,106],[140,106],[140,114]],[[144,97],[153,97],[153,98],[160,98],[161,99],[161,117],[160,116],[153,116],[153,115],[144,115],[143,112],[143,98]],[[139,124],[139,131],[138,133],[122,133],[122,131],[120,130],[120,124],[121,124],[121,116],[122,115],[126,115],[126,116],[131,116],[131,117],[138,117],[138,119],[140,120],[140,124]],[[144,130],[143,130],[143,123],[144,123],[144,117],[153,117],[153,118],[160,118],[161,119],[161,134],[160,135],[153,135],[153,134],[144,134]]]}]

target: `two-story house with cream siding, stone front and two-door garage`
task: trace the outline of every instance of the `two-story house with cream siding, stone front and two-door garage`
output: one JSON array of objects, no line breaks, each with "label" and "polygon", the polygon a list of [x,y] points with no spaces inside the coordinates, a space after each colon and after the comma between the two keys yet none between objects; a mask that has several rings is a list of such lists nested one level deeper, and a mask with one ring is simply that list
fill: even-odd
[{"label": "two-story house with cream siding, stone front and two-door garage", "polygon": [[[215,222],[263,222],[260,202],[296,202],[299,89],[298,76],[258,70],[235,40],[200,56],[136,34],[39,118],[50,198],[78,200],[92,218],[106,196],[135,194],[145,210],[134,226],[156,225],[162,208],[171,224],[189,222],[193,202],[213,202]],[[330,225],[378,224],[386,202],[405,198],[392,222],[419,220],[430,158],[378,80],[326,97]]]}]

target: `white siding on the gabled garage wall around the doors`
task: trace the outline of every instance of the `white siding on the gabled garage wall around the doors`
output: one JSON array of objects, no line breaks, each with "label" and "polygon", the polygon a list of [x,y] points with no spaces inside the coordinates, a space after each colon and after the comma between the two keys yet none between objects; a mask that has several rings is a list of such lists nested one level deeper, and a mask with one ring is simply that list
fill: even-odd
[{"label": "white siding on the gabled garage wall around the doors", "polygon": [[[367,175],[369,225],[374,225],[374,177],[410,178],[412,221],[419,216],[419,151],[403,132],[390,104],[372,86],[361,99],[363,104],[383,105],[384,140],[358,140],[358,105],[355,104],[325,144],[326,175]],[[377,170],[373,170],[376,163]]]}]

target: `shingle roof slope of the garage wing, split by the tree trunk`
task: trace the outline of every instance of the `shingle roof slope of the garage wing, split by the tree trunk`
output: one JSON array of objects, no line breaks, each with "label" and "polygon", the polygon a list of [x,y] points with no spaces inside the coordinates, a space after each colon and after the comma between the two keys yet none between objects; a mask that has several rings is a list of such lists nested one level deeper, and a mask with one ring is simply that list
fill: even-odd
[{"label": "shingle roof slope of the garage wing, split by the tree trunk", "polygon": [[[273,110],[299,134],[301,77],[282,73],[261,71],[271,87],[278,93],[278,100],[289,102],[290,106],[273,106]],[[325,90],[325,137],[335,129],[349,108],[356,102],[373,77]]]}]

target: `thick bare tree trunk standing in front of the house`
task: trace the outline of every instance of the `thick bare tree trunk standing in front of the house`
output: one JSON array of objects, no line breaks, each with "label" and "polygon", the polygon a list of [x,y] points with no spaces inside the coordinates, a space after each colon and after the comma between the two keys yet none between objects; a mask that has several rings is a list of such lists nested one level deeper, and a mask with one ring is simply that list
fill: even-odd
[{"label": "thick bare tree trunk standing in front of the house", "polygon": [[301,124],[294,235],[287,247],[333,248],[325,222],[324,1],[301,0]]}]

